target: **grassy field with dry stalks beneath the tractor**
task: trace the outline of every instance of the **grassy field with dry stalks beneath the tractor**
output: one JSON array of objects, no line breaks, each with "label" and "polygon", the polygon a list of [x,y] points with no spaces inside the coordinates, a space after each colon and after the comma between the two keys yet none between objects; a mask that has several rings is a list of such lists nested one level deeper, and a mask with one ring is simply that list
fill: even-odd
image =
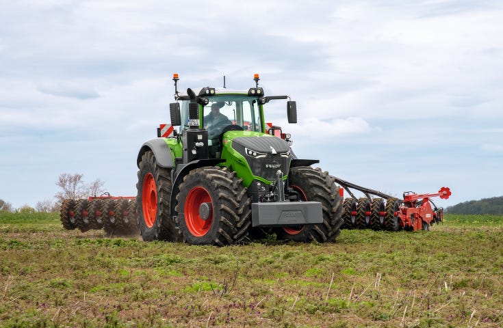
[{"label": "grassy field with dry stalks beneath the tractor", "polygon": [[0,327],[501,327],[503,217],[197,247],[0,213]]}]

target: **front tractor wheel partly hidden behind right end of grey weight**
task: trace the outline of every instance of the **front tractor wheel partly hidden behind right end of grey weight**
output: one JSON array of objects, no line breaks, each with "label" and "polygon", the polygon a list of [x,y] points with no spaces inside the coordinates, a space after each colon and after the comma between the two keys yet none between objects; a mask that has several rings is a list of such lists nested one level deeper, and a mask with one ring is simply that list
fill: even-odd
[{"label": "front tractor wheel partly hidden behind right end of grey weight", "polygon": [[323,222],[305,226],[276,228],[276,236],[287,241],[319,243],[335,241],[342,225],[342,197],[328,172],[301,166],[289,172],[289,187],[300,193],[301,200],[322,203]]}]

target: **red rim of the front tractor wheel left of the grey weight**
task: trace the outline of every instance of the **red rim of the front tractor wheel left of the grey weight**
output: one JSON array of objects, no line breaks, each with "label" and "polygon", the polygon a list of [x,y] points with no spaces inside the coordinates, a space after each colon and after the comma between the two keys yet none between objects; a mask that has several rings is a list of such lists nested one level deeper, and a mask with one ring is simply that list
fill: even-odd
[{"label": "red rim of the front tractor wheel left of the grey weight", "polygon": [[[210,203],[209,217],[205,220],[199,215],[199,207],[203,203]],[[185,224],[194,236],[201,237],[207,234],[213,223],[213,204],[209,192],[203,187],[193,188],[185,199]]]}]

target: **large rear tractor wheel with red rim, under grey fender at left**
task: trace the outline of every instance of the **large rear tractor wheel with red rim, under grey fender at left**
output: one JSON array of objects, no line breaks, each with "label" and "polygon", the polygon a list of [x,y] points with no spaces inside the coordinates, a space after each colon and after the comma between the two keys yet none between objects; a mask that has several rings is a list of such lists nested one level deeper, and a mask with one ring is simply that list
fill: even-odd
[{"label": "large rear tractor wheel with red rim, under grey fender at left", "polygon": [[[143,240],[179,241],[179,233],[170,217],[171,170],[157,165],[151,151],[143,154],[138,167],[136,203]],[[124,224],[122,219],[120,222]]]}]

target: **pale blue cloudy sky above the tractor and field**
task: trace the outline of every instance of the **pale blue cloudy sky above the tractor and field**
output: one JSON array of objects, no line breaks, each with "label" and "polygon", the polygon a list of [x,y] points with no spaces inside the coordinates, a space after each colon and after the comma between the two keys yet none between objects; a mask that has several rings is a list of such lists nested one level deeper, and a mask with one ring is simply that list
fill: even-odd
[{"label": "pale blue cloudy sky above the tractor and field", "polygon": [[503,195],[503,3],[0,0],[0,199],[62,173],[136,195],[136,157],[179,88],[248,89],[299,158],[401,197]]}]

